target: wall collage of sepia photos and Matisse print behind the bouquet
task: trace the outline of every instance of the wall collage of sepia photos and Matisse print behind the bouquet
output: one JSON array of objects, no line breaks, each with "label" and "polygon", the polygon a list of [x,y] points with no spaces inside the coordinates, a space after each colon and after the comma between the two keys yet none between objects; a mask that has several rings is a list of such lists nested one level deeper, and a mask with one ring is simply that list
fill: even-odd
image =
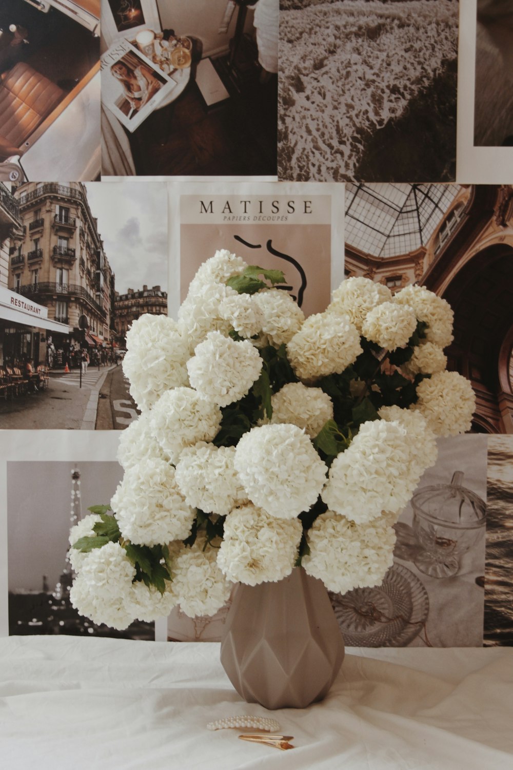
[{"label": "wall collage of sepia photos and Matisse print behind the bouquet", "polygon": [[230,601],[80,616],[68,533],[122,479],[128,329],[228,249],[306,316],[355,276],[448,300],[471,432],[331,604],[348,646],[513,642],[512,73],[509,0],[3,0],[0,635],[221,638]]}]

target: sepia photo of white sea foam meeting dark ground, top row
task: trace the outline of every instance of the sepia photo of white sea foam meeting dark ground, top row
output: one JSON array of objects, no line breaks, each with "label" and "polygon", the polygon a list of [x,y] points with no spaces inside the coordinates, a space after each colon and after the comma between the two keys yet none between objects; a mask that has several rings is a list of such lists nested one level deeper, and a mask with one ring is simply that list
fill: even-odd
[{"label": "sepia photo of white sea foam meeting dark ground, top row", "polygon": [[279,179],[455,179],[457,0],[280,10]]}]

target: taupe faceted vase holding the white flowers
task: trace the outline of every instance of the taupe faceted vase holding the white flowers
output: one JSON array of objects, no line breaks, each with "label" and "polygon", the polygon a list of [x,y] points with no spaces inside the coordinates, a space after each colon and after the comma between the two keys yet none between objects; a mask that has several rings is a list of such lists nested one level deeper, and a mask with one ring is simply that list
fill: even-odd
[{"label": "taupe faceted vase holding the white flowers", "polygon": [[239,695],[265,708],[305,708],[328,694],[344,640],[325,586],[295,567],[278,583],[238,584],[221,663]]}]

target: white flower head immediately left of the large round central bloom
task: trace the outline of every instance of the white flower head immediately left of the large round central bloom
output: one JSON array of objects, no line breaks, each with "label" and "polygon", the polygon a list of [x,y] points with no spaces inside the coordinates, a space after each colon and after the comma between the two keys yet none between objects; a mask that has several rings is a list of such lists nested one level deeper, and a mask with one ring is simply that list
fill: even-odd
[{"label": "white flower head immediately left of the large round central bloom", "polygon": [[176,466],[176,483],[185,501],[206,514],[221,516],[247,502],[234,460],[235,447],[215,447],[201,441],[185,449]]}]

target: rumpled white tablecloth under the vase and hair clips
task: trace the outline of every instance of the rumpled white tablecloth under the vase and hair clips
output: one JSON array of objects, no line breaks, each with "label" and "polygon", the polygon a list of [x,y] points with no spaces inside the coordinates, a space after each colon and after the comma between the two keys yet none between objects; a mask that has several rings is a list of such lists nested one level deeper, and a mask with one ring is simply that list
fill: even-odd
[{"label": "rumpled white tablecloth under the vase and hair clips", "polygon": [[[215,643],[0,639],[2,768],[513,768],[511,648],[352,648],[325,701],[272,712],[242,701],[218,653]],[[296,748],[205,728],[238,714],[275,716]]]}]

